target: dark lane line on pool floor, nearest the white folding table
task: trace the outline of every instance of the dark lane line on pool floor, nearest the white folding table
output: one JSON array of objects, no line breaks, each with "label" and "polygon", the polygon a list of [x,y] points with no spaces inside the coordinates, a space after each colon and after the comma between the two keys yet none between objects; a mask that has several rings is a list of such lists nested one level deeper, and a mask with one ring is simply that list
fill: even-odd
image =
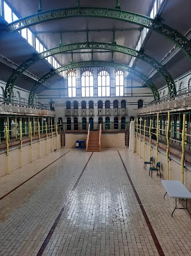
[{"label": "dark lane line on pool floor, nearest the white folding table", "polygon": [[[118,153],[119,153],[119,150],[118,150]],[[160,256],[165,256],[164,252],[162,251],[162,248],[161,248],[161,245],[160,245],[160,243],[159,243],[159,240],[158,240],[158,238],[156,237],[155,231],[154,231],[153,228],[152,228],[152,225],[151,225],[151,223],[150,223],[150,221],[149,221],[149,218],[148,218],[148,216],[147,216],[147,213],[146,213],[146,211],[144,210],[143,204],[141,203],[141,200],[140,200],[140,198],[139,198],[139,196],[138,196],[138,193],[137,193],[137,191],[136,191],[136,189],[135,189],[135,186],[133,185],[133,181],[131,180],[130,174],[128,173],[128,170],[127,170],[127,168],[126,168],[126,166],[125,166],[125,164],[124,164],[124,161],[123,161],[123,159],[122,159],[120,153],[119,153],[119,157],[121,158],[121,162],[122,162],[122,164],[124,165],[125,172],[126,172],[126,174],[127,174],[128,179],[130,180],[130,183],[131,183],[131,186],[132,186],[132,188],[133,188],[135,197],[137,198],[138,204],[139,204],[140,209],[141,209],[141,211],[142,211],[142,213],[143,213],[144,219],[145,219],[146,224],[147,224],[147,226],[148,226],[148,228],[149,228],[149,231],[150,231],[150,234],[151,234],[151,236],[152,236],[152,239],[153,239],[153,241],[154,241],[154,243],[155,243],[156,249],[158,250],[158,253],[159,253]]]}]

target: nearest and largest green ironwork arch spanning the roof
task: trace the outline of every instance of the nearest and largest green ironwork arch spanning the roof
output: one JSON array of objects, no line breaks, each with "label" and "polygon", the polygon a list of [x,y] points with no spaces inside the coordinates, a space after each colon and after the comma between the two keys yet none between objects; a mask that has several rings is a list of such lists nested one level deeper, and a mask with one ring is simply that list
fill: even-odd
[{"label": "nearest and largest green ironwork arch spanning the roof", "polygon": [[78,6],[74,8],[42,11],[41,13],[32,14],[6,25],[5,31],[19,31],[20,29],[27,28],[38,23],[48,22],[56,19],[66,19],[70,17],[100,17],[121,20],[144,26],[145,28],[159,32],[172,40],[178,47],[181,48],[181,50],[184,51],[184,53],[186,53],[191,60],[191,43],[177,30],[165,25],[158,19],[151,19],[150,17],[138,13],[132,13],[130,11],[119,9]]}]

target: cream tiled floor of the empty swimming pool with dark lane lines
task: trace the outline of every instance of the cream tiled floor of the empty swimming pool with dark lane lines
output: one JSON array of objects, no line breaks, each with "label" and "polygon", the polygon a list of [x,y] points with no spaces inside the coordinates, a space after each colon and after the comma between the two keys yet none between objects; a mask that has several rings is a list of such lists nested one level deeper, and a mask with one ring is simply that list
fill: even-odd
[{"label": "cream tiled floor of the empty swimming pool with dark lane lines", "polygon": [[18,186],[0,200],[0,255],[191,255],[189,213],[171,217],[174,200],[143,159],[67,151],[0,178],[1,198]]}]

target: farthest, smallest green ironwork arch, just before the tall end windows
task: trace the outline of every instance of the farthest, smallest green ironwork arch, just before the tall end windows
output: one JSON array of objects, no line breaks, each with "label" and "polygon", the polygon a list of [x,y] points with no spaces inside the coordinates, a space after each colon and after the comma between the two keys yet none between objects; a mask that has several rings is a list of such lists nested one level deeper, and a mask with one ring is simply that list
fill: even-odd
[{"label": "farthest, smallest green ironwork arch, just before the tall end windows", "polygon": [[135,68],[129,67],[124,64],[119,64],[119,63],[109,62],[109,61],[82,61],[82,62],[73,62],[67,65],[63,65],[62,67],[57,68],[56,70],[52,70],[49,73],[45,74],[43,77],[41,77],[41,79],[39,79],[35,83],[32,90],[30,91],[29,106],[33,106],[33,100],[35,98],[35,94],[39,86],[41,86],[47,79],[54,76],[55,74],[58,74],[62,71],[70,70],[71,68],[100,67],[100,66],[117,68],[118,70],[124,70],[130,73],[133,73],[135,76],[140,77],[140,79],[144,80],[144,82],[147,83],[147,85],[149,85],[150,89],[152,90],[154,100],[155,101],[159,100],[159,93],[155,84],[152,82],[152,80],[149,79],[149,77],[145,76],[143,73],[139,72],[138,70],[135,70]]}]

